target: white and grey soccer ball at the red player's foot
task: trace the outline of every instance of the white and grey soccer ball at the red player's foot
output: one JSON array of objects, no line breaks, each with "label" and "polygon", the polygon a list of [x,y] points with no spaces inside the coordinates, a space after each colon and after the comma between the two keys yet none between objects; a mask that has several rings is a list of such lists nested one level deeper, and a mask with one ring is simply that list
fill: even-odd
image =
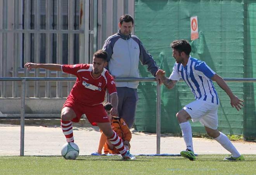
[{"label": "white and grey soccer ball at the red player's foot", "polygon": [[65,143],[61,148],[61,155],[65,159],[75,160],[78,157],[79,148],[74,142]]}]

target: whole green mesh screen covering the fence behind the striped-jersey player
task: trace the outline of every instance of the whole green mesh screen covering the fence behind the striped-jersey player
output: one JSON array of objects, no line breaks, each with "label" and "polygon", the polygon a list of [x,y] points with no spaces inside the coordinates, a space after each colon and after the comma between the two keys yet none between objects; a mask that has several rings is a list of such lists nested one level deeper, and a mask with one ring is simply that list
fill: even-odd
[{"label": "whole green mesh screen covering the fence behind the striped-jersey player", "polygon": [[[199,39],[192,42],[191,16],[197,16],[199,26]],[[192,57],[205,61],[221,77],[255,77],[255,25],[255,0],[135,1],[135,34],[167,76],[175,63],[171,41],[187,39],[192,46]],[[142,77],[151,77],[146,66],[139,69]],[[246,100],[245,108],[239,112],[230,106],[227,94],[216,83],[214,85],[220,97],[219,130],[225,134],[256,137],[253,83],[228,83],[239,98]],[[138,95],[135,127],[140,131],[156,132],[156,84],[140,83]],[[175,114],[194,100],[190,88],[185,82],[178,82],[171,90],[162,86],[161,98],[161,132],[180,133]],[[192,130],[205,133],[199,122],[192,123]]]}]

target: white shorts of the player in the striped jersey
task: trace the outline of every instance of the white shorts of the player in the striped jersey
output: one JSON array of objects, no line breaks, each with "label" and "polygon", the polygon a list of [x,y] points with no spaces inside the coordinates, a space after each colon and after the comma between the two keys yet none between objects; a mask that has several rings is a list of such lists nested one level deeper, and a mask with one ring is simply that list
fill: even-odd
[{"label": "white shorts of the player in the striped jersey", "polygon": [[218,128],[218,106],[208,101],[195,100],[183,109],[189,113],[193,122],[199,121],[202,125],[211,128]]}]

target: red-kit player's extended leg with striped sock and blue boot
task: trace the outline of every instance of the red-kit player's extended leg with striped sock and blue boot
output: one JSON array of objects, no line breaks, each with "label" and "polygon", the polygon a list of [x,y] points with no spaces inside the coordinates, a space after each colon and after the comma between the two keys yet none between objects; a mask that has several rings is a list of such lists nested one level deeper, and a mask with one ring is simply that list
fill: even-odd
[{"label": "red-kit player's extended leg with striped sock and blue boot", "polygon": [[112,130],[110,122],[107,123],[97,123],[99,128],[102,130],[102,132],[105,134],[107,139],[111,142],[111,144],[119,151],[119,153],[122,155],[122,157],[126,159],[135,159],[135,157],[129,153],[129,151],[126,151],[126,148],[123,144],[122,139]]}]

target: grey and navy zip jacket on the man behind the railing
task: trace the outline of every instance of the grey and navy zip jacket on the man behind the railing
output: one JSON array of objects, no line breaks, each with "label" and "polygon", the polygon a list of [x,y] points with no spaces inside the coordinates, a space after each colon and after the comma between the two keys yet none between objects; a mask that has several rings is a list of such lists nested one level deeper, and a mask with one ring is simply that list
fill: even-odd
[{"label": "grey and navy zip jacket on the man behind the railing", "polygon": [[[158,67],[152,55],[142,45],[135,35],[123,35],[118,33],[106,39],[102,50],[108,53],[108,66],[110,74],[116,78],[140,77],[138,62],[147,65],[147,70],[155,76]],[[137,89],[138,82],[116,82],[116,87],[128,87]]]}]

